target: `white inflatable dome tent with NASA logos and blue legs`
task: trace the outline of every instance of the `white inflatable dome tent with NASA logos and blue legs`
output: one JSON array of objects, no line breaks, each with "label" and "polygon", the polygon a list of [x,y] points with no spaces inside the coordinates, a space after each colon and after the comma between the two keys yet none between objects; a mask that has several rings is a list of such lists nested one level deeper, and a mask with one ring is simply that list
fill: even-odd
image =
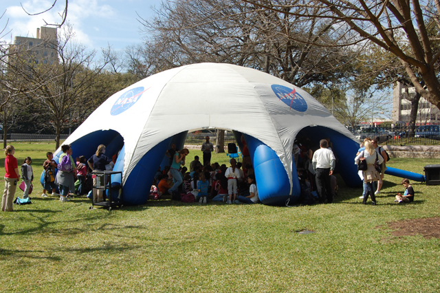
[{"label": "white inflatable dome tent with NASA logos and blue legs", "polygon": [[[353,135],[306,91],[256,69],[200,63],[169,69],[119,91],[65,140],[74,157],[90,158],[99,144],[118,155],[126,204],[145,204],[170,144],[184,146],[186,133],[227,129],[251,154],[263,204],[295,202],[300,187],[292,147],[298,133],[318,144],[330,138],[337,168],[348,186],[360,178]],[[55,153],[55,160],[61,148]]]}]

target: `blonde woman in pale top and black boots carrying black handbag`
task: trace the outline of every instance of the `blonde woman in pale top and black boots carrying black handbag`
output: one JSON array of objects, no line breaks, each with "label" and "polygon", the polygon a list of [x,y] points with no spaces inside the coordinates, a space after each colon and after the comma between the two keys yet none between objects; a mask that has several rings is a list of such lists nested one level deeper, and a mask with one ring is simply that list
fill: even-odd
[{"label": "blonde woman in pale top and black boots carrying black handbag", "polygon": [[373,144],[368,140],[365,142],[364,151],[361,151],[360,154],[356,156],[355,158],[356,164],[359,164],[362,157],[366,161],[366,166],[367,166],[366,171],[362,171],[364,175],[364,186],[366,190],[366,192],[364,193],[364,199],[362,200],[362,204],[366,204],[366,199],[368,199],[370,195],[371,204],[375,206],[376,197],[374,194],[374,190],[375,190],[374,182],[380,180],[380,175],[379,172],[376,171],[374,163],[377,158],[379,164],[382,164],[382,162],[384,162],[384,158],[382,158],[382,155],[380,155],[380,153],[377,153],[375,151]]}]

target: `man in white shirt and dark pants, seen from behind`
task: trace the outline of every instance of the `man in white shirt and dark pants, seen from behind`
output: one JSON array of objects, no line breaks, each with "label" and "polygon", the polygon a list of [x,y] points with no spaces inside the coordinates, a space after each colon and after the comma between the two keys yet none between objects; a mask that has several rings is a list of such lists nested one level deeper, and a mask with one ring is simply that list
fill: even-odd
[{"label": "man in white shirt and dark pants, seen from behind", "polygon": [[331,193],[331,174],[335,169],[336,158],[333,151],[327,149],[327,140],[320,140],[320,149],[314,153],[311,159],[316,171],[316,187],[318,188],[319,202],[324,202],[327,197],[327,203],[333,202],[333,193]]}]

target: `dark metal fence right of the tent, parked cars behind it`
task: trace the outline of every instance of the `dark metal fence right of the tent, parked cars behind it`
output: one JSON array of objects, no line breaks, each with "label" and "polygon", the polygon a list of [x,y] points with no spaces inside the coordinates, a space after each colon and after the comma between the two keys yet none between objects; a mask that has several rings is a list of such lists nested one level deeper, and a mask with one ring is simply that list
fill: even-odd
[{"label": "dark metal fence right of the tent, parked cars behind it", "polygon": [[388,125],[364,127],[351,131],[360,142],[364,138],[377,140],[380,144],[391,145],[438,145],[440,129],[438,124],[428,125]]}]

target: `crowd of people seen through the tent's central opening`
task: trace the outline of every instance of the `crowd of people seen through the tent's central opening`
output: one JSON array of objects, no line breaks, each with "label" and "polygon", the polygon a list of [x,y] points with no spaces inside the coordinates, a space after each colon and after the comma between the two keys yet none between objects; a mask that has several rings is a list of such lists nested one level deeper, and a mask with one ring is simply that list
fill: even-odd
[{"label": "crowd of people seen through the tent's central opening", "polygon": [[[206,142],[201,146],[203,164],[198,155],[186,166],[188,149],[178,151],[176,145],[166,152],[169,166],[157,170],[155,180],[151,186],[150,197],[157,199],[162,195],[171,195],[175,200],[182,202],[225,202],[227,204],[259,202],[256,188],[254,169],[251,164],[236,162],[230,159],[230,166],[210,163],[214,146],[206,136]],[[244,138],[242,138],[244,141]],[[245,143],[243,144],[245,146]],[[243,147],[243,156],[248,157],[247,146]],[[243,160],[245,161],[245,160]],[[244,167],[244,168],[243,168]]]}]

